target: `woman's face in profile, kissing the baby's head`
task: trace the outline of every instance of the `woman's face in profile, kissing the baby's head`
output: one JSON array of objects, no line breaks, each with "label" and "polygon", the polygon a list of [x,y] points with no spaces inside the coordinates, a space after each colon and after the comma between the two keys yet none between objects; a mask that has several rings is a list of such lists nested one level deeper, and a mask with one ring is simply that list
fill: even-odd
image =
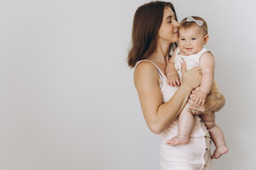
[{"label": "woman's face in profile, kissing the baby's head", "polygon": [[159,29],[158,39],[164,42],[178,41],[178,27],[179,23],[175,20],[174,11],[169,6],[164,8],[164,18]]}]

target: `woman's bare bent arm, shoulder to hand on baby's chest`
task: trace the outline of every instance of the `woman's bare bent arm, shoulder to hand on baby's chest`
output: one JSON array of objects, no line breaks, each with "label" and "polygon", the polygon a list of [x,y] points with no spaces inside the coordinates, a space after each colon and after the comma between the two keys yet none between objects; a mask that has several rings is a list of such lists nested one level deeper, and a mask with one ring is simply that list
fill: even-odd
[{"label": "woman's bare bent arm, shoulder to hand on baby's chest", "polygon": [[160,78],[156,67],[150,62],[142,62],[134,71],[134,84],[139,94],[146,125],[155,134],[160,134],[181,113],[191,91],[201,82],[199,68],[186,72],[184,64],[183,73],[183,84],[168,102],[162,103]]}]

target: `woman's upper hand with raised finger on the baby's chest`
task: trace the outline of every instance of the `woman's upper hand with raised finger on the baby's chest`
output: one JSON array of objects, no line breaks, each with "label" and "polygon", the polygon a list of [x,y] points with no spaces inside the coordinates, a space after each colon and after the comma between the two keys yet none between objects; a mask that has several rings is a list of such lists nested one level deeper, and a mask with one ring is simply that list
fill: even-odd
[{"label": "woman's upper hand with raised finger on the baby's chest", "polygon": [[182,67],[182,84],[186,84],[192,89],[196,89],[201,84],[202,72],[199,67],[195,67],[189,71],[186,69],[186,63],[183,62]]}]

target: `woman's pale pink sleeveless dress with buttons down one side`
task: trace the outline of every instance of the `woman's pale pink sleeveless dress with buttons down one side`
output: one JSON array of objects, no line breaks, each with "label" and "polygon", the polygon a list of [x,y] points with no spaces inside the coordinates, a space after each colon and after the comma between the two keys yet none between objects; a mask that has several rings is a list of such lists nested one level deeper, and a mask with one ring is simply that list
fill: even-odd
[{"label": "woman's pale pink sleeveless dress with buttons down one side", "polygon": [[[151,62],[141,60],[137,62]],[[167,77],[161,69],[151,62],[159,72],[162,80],[160,87],[163,103],[166,103],[174,96],[178,87],[167,85]],[[137,67],[137,64],[135,68]],[[210,159],[210,135],[206,126],[198,115],[194,116],[195,124],[189,137],[188,145],[178,145],[173,147],[166,145],[166,141],[178,134],[178,119],[176,118],[160,135],[159,161],[161,170],[211,170],[212,160]]]}]

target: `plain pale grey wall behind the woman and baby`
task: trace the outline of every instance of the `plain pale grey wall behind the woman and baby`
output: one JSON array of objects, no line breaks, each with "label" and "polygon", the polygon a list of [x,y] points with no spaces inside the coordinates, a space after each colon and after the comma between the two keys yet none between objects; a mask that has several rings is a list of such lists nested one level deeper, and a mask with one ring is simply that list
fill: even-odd
[{"label": "plain pale grey wall behind the woman and baby", "polygon": [[[145,2],[0,1],[0,169],[159,169],[159,136],[146,127],[126,63]],[[171,2],[178,21],[208,23],[226,99],[217,124],[230,149],[214,169],[254,169],[256,3]]]}]

